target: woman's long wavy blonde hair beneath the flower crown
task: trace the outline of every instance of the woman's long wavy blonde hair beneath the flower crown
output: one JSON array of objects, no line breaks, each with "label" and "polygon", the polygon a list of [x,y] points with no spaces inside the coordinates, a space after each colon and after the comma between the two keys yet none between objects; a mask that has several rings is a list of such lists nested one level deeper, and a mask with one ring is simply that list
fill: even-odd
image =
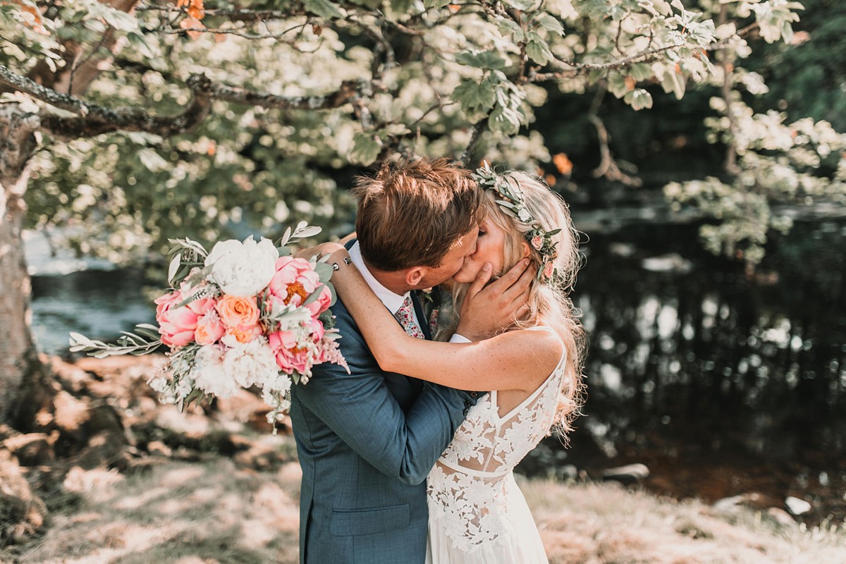
[{"label": "woman's long wavy blonde hair beneath the flower crown", "polygon": [[[566,438],[565,433],[571,429],[571,422],[579,414],[584,395],[582,368],[585,357],[585,331],[579,320],[580,312],[575,309],[569,297],[582,262],[579,232],[573,226],[567,203],[549,189],[543,180],[519,171],[505,172],[500,176],[512,186],[516,186],[518,194],[522,193],[523,200],[520,203],[535,221],[527,224],[508,215],[503,211],[503,207],[497,204],[497,200],[501,198],[500,194],[491,189],[485,190],[483,205],[486,206],[488,217],[506,233],[503,272],[495,273],[497,276],[517,264],[527,252],[541,271],[545,260],[550,260],[550,257],[541,255],[527,240],[526,234],[537,227],[543,232],[560,229],[558,233],[549,236],[558,251],[552,258],[556,269],[555,276],[545,282],[541,282],[541,276],[538,276],[531,282],[529,312],[521,319],[514,320],[514,324],[508,329],[536,326],[542,320],[561,337],[566,350],[566,364],[555,423],[559,433]],[[439,328],[438,338],[448,338],[458,326],[458,312],[468,287],[469,283],[457,283],[453,286],[452,311],[445,312],[448,313],[445,315],[448,318],[448,326]]]}]

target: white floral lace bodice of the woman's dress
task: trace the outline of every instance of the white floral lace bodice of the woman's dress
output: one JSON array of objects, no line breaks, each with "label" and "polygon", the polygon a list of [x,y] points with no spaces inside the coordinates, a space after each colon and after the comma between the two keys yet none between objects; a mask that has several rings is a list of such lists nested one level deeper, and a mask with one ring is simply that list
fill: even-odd
[{"label": "white floral lace bodice of the woman's dress", "polygon": [[[537,330],[552,329],[546,326]],[[430,518],[438,517],[456,548],[494,541],[507,524],[506,487],[520,460],[549,433],[558,406],[564,349],[552,374],[516,408],[500,416],[497,392],[479,400],[426,480]]]}]

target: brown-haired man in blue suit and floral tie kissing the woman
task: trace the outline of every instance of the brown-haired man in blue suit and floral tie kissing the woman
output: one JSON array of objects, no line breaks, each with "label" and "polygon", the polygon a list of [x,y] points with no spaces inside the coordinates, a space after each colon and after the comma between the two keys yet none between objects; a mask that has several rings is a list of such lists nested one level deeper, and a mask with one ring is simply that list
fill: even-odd
[{"label": "brown-haired man in blue suit and floral tie kissing the woman", "polygon": [[[475,252],[481,189],[437,159],[382,167],[355,195],[354,265],[410,335],[431,338],[414,290],[447,281]],[[332,312],[350,374],[320,364],[291,403],[300,562],[422,564],[426,475],[479,394],[382,372],[340,300]]]}]

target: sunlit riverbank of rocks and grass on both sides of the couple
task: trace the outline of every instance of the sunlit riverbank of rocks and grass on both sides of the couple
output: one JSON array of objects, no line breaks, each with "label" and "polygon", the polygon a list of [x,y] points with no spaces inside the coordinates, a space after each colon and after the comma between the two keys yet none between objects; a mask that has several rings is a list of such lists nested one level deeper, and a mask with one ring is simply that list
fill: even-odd
[{"label": "sunlit riverbank of rocks and grass on both sides of the couple", "polygon": [[[261,400],[243,393],[179,413],[146,385],[155,357],[50,361],[43,432],[0,433],[0,562],[297,561],[294,441],[269,432]],[[3,505],[15,476],[34,496]],[[841,523],[807,528],[750,500],[675,501],[580,480],[520,480],[553,564],[846,562]],[[6,507],[21,509],[19,523]]]}]

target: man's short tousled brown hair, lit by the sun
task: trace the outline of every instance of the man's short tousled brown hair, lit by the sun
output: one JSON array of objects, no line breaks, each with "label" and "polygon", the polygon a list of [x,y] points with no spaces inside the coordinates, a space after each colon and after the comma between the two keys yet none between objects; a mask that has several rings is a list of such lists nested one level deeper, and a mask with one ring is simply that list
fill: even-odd
[{"label": "man's short tousled brown hair, lit by the sun", "polygon": [[381,271],[440,266],[483,213],[470,171],[448,158],[386,164],[357,178],[353,194],[361,256]]}]

